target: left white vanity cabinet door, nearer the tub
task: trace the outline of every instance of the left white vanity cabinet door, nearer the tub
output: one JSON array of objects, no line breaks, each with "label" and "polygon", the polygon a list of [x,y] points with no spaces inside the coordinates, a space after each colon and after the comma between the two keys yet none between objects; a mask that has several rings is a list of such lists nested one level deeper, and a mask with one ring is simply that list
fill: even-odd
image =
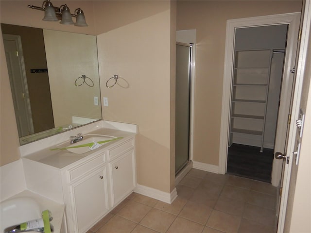
[{"label": "left white vanity cabinet door, nearer the tub", "polygon": [[77,232],[82,233],[108,212],[106,168],[70,185]]}]

